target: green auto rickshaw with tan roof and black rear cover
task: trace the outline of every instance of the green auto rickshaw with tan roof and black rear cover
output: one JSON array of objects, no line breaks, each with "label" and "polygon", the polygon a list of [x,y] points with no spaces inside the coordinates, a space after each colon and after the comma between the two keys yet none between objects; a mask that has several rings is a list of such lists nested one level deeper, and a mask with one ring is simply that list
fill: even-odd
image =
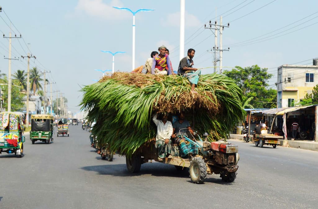
[{"label": "green auto rickshaw with tan roof and black rear cover", "polygon": [[53,121],[54,117],[52,115],[31,115],[30,140],[32,144],[36,141],[43,141],[45,144],[50,144],[50,141],[53,141]]}]

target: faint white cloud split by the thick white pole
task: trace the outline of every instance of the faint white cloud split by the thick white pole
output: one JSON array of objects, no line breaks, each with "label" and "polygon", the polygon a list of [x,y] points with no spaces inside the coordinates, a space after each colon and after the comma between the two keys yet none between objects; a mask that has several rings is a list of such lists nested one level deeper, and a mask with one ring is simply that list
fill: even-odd
[{"label": "faint white cloud split by the thick white pole", "polygon": [[[187,11],[184,14],[184,18],[185,18],[185,27],[186,28],[187,27],[197,27],[197,26],[203,25],[203,23],[201,23],[201,21],[196,16],[190,14]],[[167,16],[167,19],[162,21],[162,25],[179,27],[180,26],[180,12],[169,14]]]}]

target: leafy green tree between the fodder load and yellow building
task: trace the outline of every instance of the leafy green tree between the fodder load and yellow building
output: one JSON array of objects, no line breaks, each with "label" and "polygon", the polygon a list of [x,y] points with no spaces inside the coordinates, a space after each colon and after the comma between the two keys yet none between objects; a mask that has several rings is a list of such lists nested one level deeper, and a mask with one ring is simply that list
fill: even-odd
[{"label": "leafy green tree between the fodder load and yellow building", "polygon": [[242,89],[243,103],[251,98],[249,105],[254,108],[275,108],[277,91],[268,89],[268,80],[273,74],[267,73],[267,68],[260,68],[258,65],[236,69],[225,70],[224,74],[232,78]]}]

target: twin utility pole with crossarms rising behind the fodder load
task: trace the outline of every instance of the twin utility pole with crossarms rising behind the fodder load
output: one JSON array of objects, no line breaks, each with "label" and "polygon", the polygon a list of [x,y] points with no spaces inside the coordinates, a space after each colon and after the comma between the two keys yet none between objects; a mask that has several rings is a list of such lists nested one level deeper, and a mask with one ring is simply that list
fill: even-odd
[{"label": "twin utility pole with crossarms rising behind the fodder load", "polygon": [[[212,31],[212,25],[214,26],[214,32]],[[219,28],[218,28],[219,27]],[[222,25],[222,16],[220,16],[220,24],[217,24],[217,21],[214,22],[214,24],[211,23],[211,20],[209,22],[209,27],[206,27],[206,24],[204,25],[205,29],[210,29],[212,31],[212,33],[214,34],[214,72],[217,72],[217,62],[220,61],[220,65],[219,65],[219,74],[222,74],[222,59],[223,59],[223,51],[229,51],[230,48],[228,49],[222,49],[223,45],[222,45],[222,35],[223,35],[223,30],[224,27],[230,27],[230,23],[227,23],[227,25]],[[220,33],[220,49],[217,46],[217,42],[218,42],[218,31]],[[220,57],[219,59],[217,58],[217,51],[219,51],[220,53]]]}]

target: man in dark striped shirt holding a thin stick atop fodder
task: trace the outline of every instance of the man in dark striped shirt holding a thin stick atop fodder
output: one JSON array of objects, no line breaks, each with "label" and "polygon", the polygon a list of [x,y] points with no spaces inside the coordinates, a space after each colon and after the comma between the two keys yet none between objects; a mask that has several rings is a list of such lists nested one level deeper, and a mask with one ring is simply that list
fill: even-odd
[{"label": "man in dark striped shirt holding a thin stick atop fodder", "polygon": [[195,52],[196,51],[194,49],[188,49],[188,56],[180,60],[178,74],[188,78],[189,82],[191,83],[191,92],[197,94],[194,88],[198,84],[201,70],[192,67],[194,65],[192,58],[194,57]]}]

